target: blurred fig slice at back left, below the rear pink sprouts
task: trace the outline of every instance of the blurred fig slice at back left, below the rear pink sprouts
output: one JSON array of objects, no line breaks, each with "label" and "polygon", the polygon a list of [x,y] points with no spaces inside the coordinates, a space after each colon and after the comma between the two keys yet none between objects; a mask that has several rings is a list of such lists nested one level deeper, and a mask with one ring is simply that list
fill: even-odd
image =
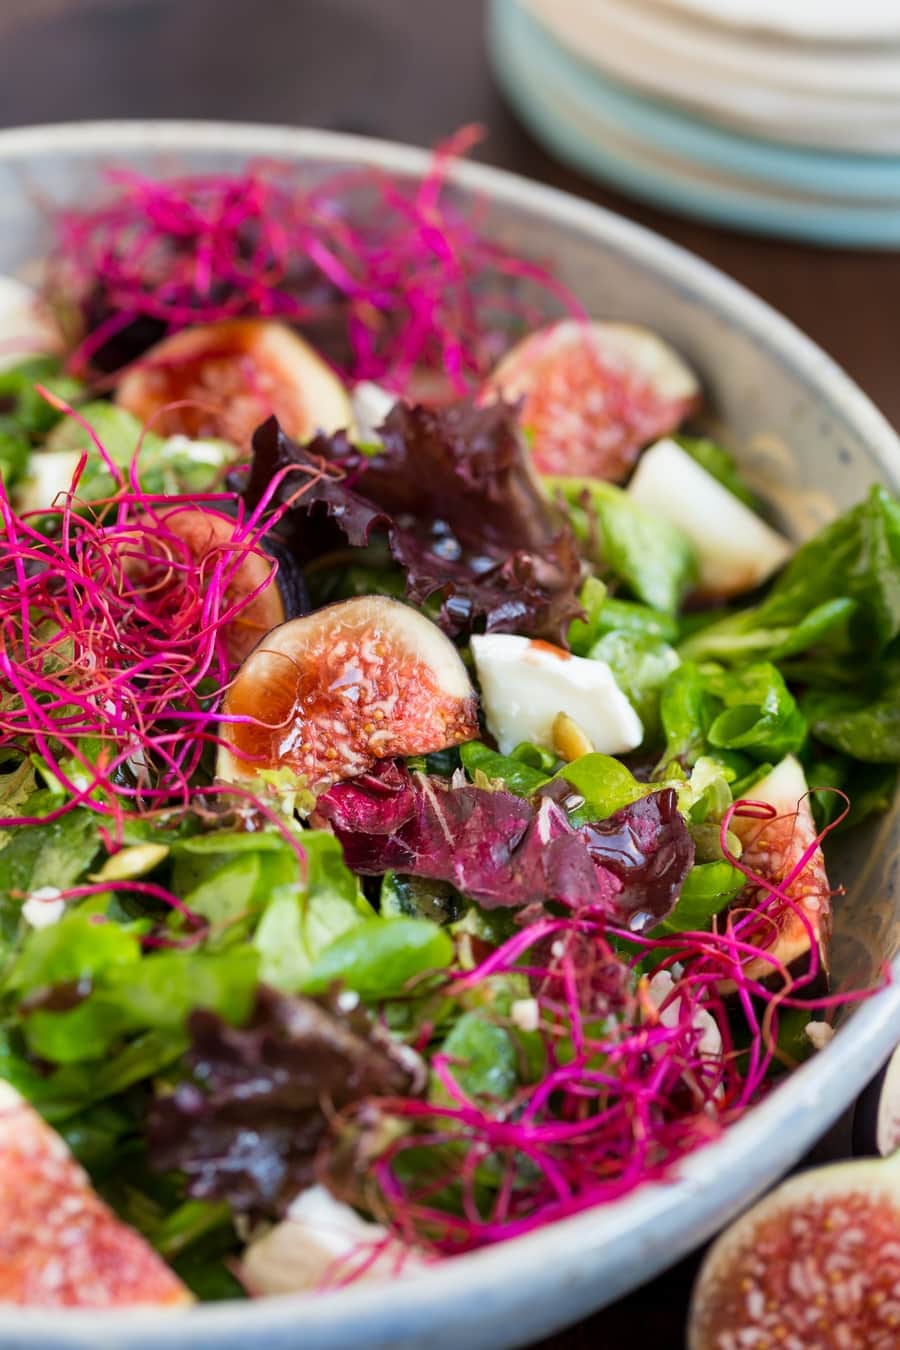
[{"label": "blurred fig slice at back left, below the rear pink sprouts", "polygon": [[294,440],[352,424],[333,371],[271,319],[232,319],[163,338],[125,371],[116,402],[144,424],[152,418],[161,436],[220,436],[244,450],[273,413]]}]

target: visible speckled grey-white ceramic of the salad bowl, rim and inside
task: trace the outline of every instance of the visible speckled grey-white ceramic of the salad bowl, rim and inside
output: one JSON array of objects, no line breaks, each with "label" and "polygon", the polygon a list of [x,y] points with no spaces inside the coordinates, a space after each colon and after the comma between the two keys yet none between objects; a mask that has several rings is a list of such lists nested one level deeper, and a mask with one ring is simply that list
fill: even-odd
[{"label": "visible speckled grey-white ceramic of the salad bowl, rim and inside", "polygon": [[[0,273],[39,258],[47,200],[85,202],[111,165],[165,174],[239,169],[254,157],[310,171],[376,163],[418,174],[426,157],[378,140],[224,123],[94,123],[0,134]],[[900,443],[851,381],[787,320],[680,248],[618,216],[479,166],[460,192],[493,202],[491,228],[552,261],[604,317],[649,324],[700,371],[716,424],[797,537],[873,481],[900,485]],[[897,815],[845,841],[835,882],[838,986],[900,975]],[[837,1119],[900,1038],[900,984],[861,1004],[833,1042],[677,1179],[552,1228],[459,1257],[426,1277],[188,1312],[0,1308],[4,1350],[479,1350],[536,1339],[648,1280],[721,1227]]]}]

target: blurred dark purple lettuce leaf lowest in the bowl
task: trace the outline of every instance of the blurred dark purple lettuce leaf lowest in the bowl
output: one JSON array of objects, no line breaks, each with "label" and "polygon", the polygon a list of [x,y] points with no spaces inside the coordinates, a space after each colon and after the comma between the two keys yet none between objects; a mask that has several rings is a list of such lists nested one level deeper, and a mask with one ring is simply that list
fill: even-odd
[{"label": "blurred dark purple lettuce leaf lowest in the bowl", "polygon": [[262,987],[247,1026],[200,1010],[189,1033],[192,1076],[151,1107],[150,1160],[181,1172],[194,1199],[258,1218],[279,1218],[313,1184],[333,1111],[421,1087],[364,1013],[325,1000]]}]

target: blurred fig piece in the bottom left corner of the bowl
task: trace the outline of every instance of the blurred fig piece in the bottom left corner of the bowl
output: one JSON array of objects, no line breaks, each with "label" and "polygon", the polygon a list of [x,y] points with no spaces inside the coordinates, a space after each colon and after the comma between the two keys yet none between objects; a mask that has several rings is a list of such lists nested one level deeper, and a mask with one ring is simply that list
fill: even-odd
[{"label": "blurred fig piece in the bottom left corner of the bowl", "polygon": [[0,1081],[0,1304],[189,1301],[181,1280],[94,1193],[59,1135]]}]

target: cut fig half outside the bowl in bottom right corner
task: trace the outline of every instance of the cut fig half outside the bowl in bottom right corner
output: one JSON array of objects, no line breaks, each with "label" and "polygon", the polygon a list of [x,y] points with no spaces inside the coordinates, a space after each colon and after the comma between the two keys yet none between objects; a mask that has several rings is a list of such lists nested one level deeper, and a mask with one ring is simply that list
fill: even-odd
[{"label": "cut fig half outside the bowl in bottom right corner", "polygon": [[803,1172],[742,1215],[700,1266],[688,1350],[895,1350],[900,1157]]}]

